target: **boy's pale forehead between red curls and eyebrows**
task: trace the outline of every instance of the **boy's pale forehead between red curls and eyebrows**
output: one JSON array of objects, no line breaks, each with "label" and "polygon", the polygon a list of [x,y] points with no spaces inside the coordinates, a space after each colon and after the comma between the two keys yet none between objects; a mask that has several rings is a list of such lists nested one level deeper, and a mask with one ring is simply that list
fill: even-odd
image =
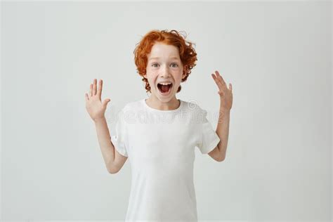
[{"label": "boy's pale forehead between red curls and eyebrows", "polygon": [[148,60],[158,58],[174,58],[179,59],[179,51],[176,46],[157,43],[152,46],[152,50],[148,54]]}]

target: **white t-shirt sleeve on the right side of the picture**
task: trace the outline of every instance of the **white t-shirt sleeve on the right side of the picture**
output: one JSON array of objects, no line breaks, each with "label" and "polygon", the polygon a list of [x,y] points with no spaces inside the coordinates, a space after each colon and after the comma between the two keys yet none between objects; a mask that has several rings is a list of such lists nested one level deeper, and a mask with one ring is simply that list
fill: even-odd
[{"label": "white t-shirt sleeve on the right side of the picture", "polygon": [[202,122],[200,122],[200,141],[197,143],[197,148],[202,152],[202,154],[207,154],[211,152],[216,145],[220,142],[216,131],[207,119],[207,111],[202,110]]}]

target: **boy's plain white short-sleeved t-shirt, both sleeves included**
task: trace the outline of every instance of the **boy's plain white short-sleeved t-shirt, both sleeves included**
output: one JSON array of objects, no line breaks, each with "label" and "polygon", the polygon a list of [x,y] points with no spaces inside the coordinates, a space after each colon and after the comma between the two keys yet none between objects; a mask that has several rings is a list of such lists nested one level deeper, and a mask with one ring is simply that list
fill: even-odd
[{"label": "boy's plain white short-sleeved t-shirt, both sleeves included", "polygon": [[176,110],[156,110],[142,99],[119,112],[111,141],[131,163],[126,221],[197,221],[195,147],[206,154],[220,139],[206,110],[180,101]]}]

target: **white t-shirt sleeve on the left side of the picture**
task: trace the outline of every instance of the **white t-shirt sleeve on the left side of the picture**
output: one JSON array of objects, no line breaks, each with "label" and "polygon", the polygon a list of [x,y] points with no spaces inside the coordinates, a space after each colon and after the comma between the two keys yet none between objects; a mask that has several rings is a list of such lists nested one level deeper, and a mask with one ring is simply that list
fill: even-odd
[{"label": "white t-shirt sleeve on the left side of the picture", "polygon": [[111,133],[111,141],[115,149],[123,156],[128,157],[126,148],[126,123],[124,121],[124,111],[120,111],[115,125],[114,133]]}]

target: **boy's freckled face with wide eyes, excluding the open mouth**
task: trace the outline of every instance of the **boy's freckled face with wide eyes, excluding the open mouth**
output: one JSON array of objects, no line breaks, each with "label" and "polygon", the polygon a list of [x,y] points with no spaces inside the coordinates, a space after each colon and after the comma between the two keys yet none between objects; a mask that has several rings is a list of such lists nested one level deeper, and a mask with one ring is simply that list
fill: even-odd
[{"label": "boy's freckled face with wide eyes, excluding the open mouth", "polygon": [[[179,51],[176,46],[166,45],[157,42],[152,46],[152,50],[148,54],[147,73],[144,75],[150,84],[152,95],[159,100],[169,101],[175,97],[181,79],[185,77],[183,72],[183,64],[179,57]],[[161,81],[170,81],[172,83],[170,92],[165,95],[157,84]]]}]

